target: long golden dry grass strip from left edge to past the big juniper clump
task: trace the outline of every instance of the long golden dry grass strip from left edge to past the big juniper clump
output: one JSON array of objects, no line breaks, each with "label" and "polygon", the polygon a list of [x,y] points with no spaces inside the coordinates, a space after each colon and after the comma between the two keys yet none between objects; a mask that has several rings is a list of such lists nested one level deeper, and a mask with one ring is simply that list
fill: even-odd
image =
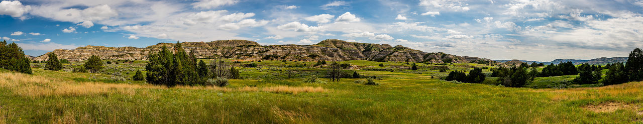
[{"label": "long golden dry grass strip from left edge to past the big juniper clump", "polygon": [[[87,94],[101,93],[122,93],[136,94],[137,89],[166,89],[160,85],[136,85],[136,84],[107,84],[100,82],[75,82],[59,78],[49,78],[44,76],[26,75],[22,73],[0,73],[0,87],[7,87],[13,93],[20,96],[30,96],[32,98],[39,96],[82,96]],[[237,89],[229,87],[216,86],[186,86],[178,85],[172,89],[194,89],[194,90],[212,90],[221,92],[257,92],[266,91],[270,93],[321,93],[325,92],[322,87],[264,87],[259,90],[258,87],[240,87]]]}]

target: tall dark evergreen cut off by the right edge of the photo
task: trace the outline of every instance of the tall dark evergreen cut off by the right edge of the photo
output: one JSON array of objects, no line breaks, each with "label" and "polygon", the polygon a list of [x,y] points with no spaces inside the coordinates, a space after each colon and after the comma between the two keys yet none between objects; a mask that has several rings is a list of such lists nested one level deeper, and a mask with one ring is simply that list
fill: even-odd
[{"label": "tall dark evergreen cut off by the right edge of the photo", "polygon": [[625,71],[629,74],[630,81],[643,80],[643,51],[636,48],[629,53],[628,61],[625,63]]}]

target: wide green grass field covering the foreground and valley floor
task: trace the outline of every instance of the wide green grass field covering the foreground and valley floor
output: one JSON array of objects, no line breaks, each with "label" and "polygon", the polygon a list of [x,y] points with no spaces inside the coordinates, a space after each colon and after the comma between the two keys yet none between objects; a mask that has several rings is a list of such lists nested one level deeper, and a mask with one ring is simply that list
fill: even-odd
[{"label": "wide green grass field covering the foreground and valley floor", "polygon": [[[265,62],[265,63],[264,63]],[[164,87],[129,79],[141,63],[103,73],[1,71],[0,123],[642,123],[643,82],[568,89],[439,80],[437,71],[364,71],[379,85],[329,82],[316,67],[240,67],[228,87]],[[243,62],[246,64],[248,62]],[[286,62],[286,64],[302,62]],[[346,61],[377,66],[380,62]],[[144,63],[143,63],[144,64]],[[312,66],[314,62],[305,63]],[[385,65],[407,66],[386,62]],[[418,64],[419,66],[431,66]],[[462,66],[458,66],[462,65]],[[477,64],[449,67],[467,69]],[[469,66],[467,66],[469,65]],[[144,66],[144,65],[143,65]],[[379,67],[379,66],[377,66]],[[122,69],[121,69],[122,68]],[[295,78],[267,78],[296,69]],[[125,80],[111,78],[116,71]],[[431,75],[434,73],[435,75]],[[319,76],[325,83],[305,83]],[[536,78],[554,82],[573,77]]]}]

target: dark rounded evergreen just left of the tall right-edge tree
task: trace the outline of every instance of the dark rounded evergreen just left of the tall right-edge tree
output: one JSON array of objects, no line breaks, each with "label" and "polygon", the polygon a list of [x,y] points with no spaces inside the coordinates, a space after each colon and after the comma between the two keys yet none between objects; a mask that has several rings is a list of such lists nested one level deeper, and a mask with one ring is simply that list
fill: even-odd
[{"label": "dark rounded evergreen just left of the tall right-edge tree", "polygon": [[611,65],[607,73],[605,73],[605,78],[602,80],[602,84],[604,85],[623,84],[625,82],[628,82],[628,74],[620,62]]}]

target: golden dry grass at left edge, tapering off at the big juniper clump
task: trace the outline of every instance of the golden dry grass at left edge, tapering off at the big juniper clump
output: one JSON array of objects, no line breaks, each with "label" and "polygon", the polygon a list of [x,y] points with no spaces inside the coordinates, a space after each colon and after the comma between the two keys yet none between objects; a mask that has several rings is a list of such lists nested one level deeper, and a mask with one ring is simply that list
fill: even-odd
[{"label": "golden dry grass at left edge, tapering off at the big juniper clump", "polygon": [[7,87],[20,96],[80,96],[98,93],[135,94],[136,89],[163,88],[154,85],[105,84],[74,82],[22,73],[1,73],[0,87]]}]

